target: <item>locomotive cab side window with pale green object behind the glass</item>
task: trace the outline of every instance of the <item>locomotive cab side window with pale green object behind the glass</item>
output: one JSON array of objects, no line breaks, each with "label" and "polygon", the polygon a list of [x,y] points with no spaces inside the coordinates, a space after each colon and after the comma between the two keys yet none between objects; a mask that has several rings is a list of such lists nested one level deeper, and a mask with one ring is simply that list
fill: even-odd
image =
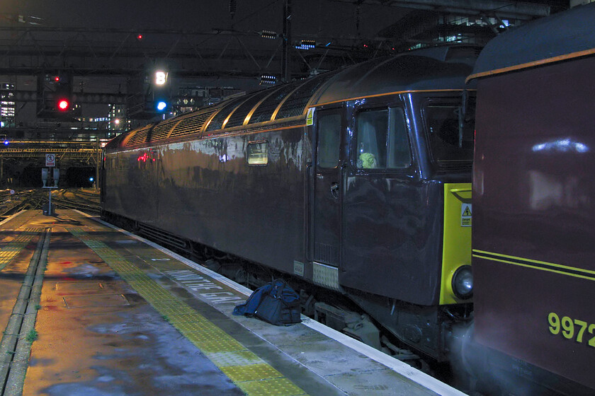
[{"label": "locomotive cab side window with pale green object behind the glass", "polygon": [[405,113],[401,107],[367,110],[356,116],[358,169],[405,169],[412,162]]}]

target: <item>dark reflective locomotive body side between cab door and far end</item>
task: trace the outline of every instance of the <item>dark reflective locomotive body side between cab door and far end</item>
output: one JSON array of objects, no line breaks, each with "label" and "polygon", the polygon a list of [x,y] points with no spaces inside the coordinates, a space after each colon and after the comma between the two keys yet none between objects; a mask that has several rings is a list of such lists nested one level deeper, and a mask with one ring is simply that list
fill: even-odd
[{"label": "dark reflective locomotive body side between cab door and far end", "polygon": [[[125,172],[108,170],[118,197],[105,210],[293,272],[293,261],[304,260],[304,136],[291,127],[108,153]],[[249,165],[248,146],[259,142],[268,161]]]}]

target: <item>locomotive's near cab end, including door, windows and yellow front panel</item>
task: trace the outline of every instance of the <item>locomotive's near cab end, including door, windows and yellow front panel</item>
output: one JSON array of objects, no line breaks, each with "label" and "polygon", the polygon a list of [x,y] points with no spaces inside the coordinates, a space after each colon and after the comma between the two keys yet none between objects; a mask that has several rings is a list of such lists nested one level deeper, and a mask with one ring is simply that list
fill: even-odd
[{"label": "locomotive's near cab end, including door, windows and yellow front panel", "polygon": [[438,360],[449,323],[472,311],[475,95],[462,92],[311,109],[312,280]]}]

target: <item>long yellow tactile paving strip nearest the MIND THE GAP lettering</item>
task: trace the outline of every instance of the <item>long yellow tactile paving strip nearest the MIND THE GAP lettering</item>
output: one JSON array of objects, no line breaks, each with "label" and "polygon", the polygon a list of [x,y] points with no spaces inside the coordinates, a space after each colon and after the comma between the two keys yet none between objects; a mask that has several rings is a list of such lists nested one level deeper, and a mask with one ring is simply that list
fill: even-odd
[{"label": "long yellow tactile paving strip nearest the MIND THE GAP lettering", "polygon": [[67,228],[101,257],[166,320],[207,356],[248,396],[297,396],[306,393],[233,337],[172,296],[145,272],[83,228]]}]

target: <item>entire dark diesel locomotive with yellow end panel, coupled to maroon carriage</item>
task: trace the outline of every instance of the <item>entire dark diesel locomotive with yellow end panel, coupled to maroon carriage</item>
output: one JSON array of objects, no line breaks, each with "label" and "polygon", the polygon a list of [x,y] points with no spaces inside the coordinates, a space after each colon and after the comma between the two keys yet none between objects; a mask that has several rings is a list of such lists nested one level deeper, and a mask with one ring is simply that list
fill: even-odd
[{"label": "entire dark diesel locomotive with yellow end panel, coupled to maroon carriage", "polygon": [[[450,327],[471,313],[461,207],[474,54],[375,59],[120,135],[106,146],[103,218],[219,257],[221,272],[249,286],[291,277],[306,313],[443,361]],[[137,161],[149,152],[155,161]],[[335,300],[315,303],[327,295]],[[369,320],[348,327],[336,315],[347,301],[390,340]]]}]

